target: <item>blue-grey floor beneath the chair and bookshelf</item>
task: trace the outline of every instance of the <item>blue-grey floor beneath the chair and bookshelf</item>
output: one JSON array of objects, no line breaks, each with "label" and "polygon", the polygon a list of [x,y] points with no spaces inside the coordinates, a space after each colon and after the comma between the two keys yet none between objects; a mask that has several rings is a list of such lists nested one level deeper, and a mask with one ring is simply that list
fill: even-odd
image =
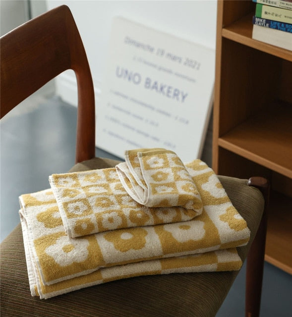
[{"label": "blue-grey floor beneath the chair and bookshelf", "polygon": [[[1,120],[1,240],[19,223],[18,196],[49,188],[50,174],[74,164],[75,126],[76,108],[57,97],[26,102]],[[96,156],[115,158],[99,149]],[[245,267],[216,317],[244,316],[244,284]],[[292,275],[268,263],[260,316],[292,317]]]}]

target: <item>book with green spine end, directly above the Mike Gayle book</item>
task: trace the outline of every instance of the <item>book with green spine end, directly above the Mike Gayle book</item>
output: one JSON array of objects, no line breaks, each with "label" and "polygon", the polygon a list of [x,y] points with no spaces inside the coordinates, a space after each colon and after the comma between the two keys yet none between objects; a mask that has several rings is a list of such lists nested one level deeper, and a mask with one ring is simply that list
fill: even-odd
[{"label": "book with green spine end, directly above the Mike Gayle book", "polygon": [[258,18],[269,19],[284,23],[292,23],[292,10],[277,8],[275,6],[257,3],[255,16]]}]

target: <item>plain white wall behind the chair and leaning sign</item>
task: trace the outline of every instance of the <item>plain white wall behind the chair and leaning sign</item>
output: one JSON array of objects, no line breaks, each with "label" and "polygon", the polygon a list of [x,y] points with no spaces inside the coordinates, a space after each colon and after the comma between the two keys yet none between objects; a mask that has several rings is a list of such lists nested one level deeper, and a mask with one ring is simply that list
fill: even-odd
[{"label": "plain white wall behind the chair and leaning sign", "polygon": [[[48,9],[66,4],[72,11],[92,71],[96,102],[100,95],[112,18],[116,15],[215,49],[216,0],[97,1],[47,0]],[[75,77],[67,71],[58,77],[57,92],[76,105]]]}]

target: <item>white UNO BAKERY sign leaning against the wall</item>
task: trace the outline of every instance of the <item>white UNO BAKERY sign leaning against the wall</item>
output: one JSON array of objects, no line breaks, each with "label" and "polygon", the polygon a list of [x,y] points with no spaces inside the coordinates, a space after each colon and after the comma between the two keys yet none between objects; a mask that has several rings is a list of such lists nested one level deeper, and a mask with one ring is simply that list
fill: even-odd
[{"label": "white UNO BAKERY sign leaning against the wall", "polygon": [[213,99],[214,50],[113,19],[106,75],[97,105],[97,146],[166,148],[199,158]]}]

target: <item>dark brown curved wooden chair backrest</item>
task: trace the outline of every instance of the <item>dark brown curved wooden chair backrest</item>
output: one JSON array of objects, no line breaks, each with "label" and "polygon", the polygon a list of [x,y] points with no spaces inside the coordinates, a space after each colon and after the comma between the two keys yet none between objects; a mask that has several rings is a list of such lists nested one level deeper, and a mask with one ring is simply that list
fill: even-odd
[{"label": "dark brown curved wooden chair backrest", "polygon": [[92,76],[80,34],[66,5],[0,38],[0,117],[66,69],[77,79],[76,162],[95,156]]}]

